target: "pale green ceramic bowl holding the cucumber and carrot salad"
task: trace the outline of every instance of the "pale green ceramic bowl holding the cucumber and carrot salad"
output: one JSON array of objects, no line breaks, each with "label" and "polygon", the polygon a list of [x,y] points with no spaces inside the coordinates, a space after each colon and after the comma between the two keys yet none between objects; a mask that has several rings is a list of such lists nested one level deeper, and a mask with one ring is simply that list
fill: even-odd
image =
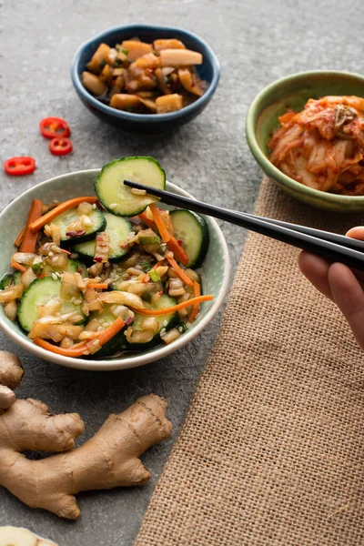
[{"label": "pale green ceramic bowl holding the cucumber and carrot salad", "polygon": [[[70,197],[94,195],[94,179],[98,173],[98,169],[93,169],[51,178],[35,187],[31,187],[3,210],[0,214],[0,234],[2,235],[0,237],[0,255],[2,258],[0,262],[0,278],[9,269],[10,258],[15,252],[13,242],[24,226],[32,200],[38,198],[42,199],[44,203],[51,203],[54,199],[57,201],[66,201]],[[167,189],[181,196],[192,197],[183,189],[169,182],[167,182]],[[161,205],[161,207],[165,206]],[[168,207],[166,206],[166,208]],[[194,339],[207,327],[207,324],[215,317],[217,309],[220,308],[227,294],[230,275],[230,259],[227,243],[220,228],[217,226],[217,222],[210,217],[206,217],[206,220],[210,234],[210,243],[207,250],[207,257],[200,271],[204,293],[212,294],[214,299],[206,301],[201,305],[197,320],[187,332],[170,345],[160,346],[143,353],[136,353],[135,355],[128,354],[123,357],[111,359],[72,359],[56,355],[35,345],[31,339],[26,337],[17,324],[6,318],[4,308],[1,305],[0,328],[23,349],[35,354],[40,359],[51,360],[56,364],[61,364],[68,368],[92,370],[126,369],[142,366],[148,362],[167,357],[167,355],[186,345],[188,341]]]}]

